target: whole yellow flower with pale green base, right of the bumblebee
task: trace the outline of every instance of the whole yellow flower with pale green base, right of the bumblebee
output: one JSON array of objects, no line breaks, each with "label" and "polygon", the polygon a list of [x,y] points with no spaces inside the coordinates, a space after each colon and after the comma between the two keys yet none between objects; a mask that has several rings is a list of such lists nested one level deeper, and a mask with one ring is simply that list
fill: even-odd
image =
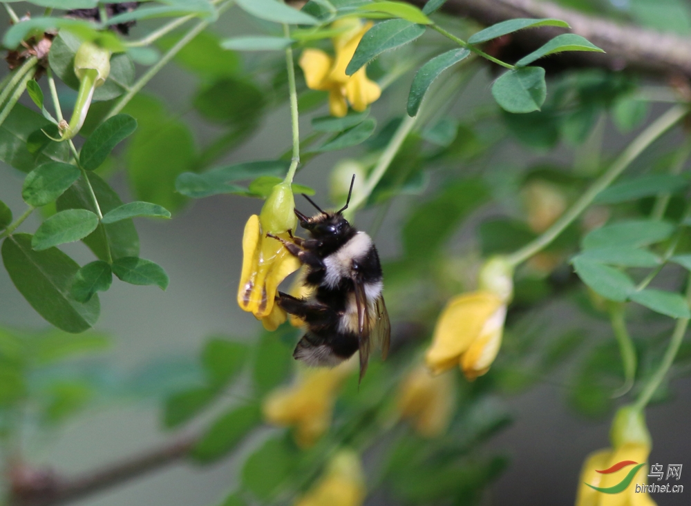
[{"label": "whole yellow flower with pale green base, right of the bumblebee", "polygon": [[480,270],[479,290],[452,298],[437,320],[427,367],[435,374],[459,364],[468,380],[489,371],[502,344],[513,268],[501,257]]}]

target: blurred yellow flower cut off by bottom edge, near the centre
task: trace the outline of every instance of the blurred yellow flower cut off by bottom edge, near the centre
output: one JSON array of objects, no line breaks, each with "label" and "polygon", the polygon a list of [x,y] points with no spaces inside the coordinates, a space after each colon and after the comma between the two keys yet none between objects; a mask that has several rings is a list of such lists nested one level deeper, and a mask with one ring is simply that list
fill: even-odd
[{"label": "blurred yellow flower cut off by bottom edge, near the centre", "polygon": [[341,450],[331,459],[324,476],[295,506],[360,506],[365,500],[365,478],[359,456]]}]

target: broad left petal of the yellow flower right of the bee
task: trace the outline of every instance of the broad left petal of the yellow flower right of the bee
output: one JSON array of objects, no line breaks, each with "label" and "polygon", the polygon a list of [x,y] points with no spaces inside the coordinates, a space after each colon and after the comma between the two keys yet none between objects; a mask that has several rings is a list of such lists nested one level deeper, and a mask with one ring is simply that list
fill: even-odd
[{"label": "broad left petal of the yellow flower right of the bee", "polygon": [[502,306],[497,295],[486,291],[453,298],[437,320],[432,346],[426,353],[433,373],[450,369],[473,341],[480,337],[487,320]]}]

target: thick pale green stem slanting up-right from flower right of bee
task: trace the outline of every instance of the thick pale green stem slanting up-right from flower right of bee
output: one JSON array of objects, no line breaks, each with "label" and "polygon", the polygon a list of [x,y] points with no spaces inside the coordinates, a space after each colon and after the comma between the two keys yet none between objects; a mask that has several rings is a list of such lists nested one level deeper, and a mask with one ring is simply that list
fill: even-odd
[{"label": "thick pale green stem slanting up-right from flower right of bee", "polygon": [[555,240],[567,226],[569,226],[576,218],[583,213],[585,209],[593,202],[595,197],[603,191],[607,186],[614,182],[614,179],[620,175],[631,162],[638,157],[643,150],[650,146],[658,137],[669,130],[677,121],[683,118],[688,113],[686,106],[674,106],[670,108],[665,114],[653,121],[638,137],[636,137],[631,144],[614,160],[603,175],[601,175],[588,190],[581,195],[576,203],[569,208],[569,210],[562,215],[552,226],[537,237],[536,240],[529,242],[518,251],[507,256],[507,262],[513,266],[525,262],[531,256],[535,255]]}]

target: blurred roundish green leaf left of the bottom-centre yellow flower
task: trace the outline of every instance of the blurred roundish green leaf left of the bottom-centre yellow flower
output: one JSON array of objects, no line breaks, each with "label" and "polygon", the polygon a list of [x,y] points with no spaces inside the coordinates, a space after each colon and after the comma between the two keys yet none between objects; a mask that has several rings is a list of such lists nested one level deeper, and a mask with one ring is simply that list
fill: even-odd
[{"label": "blurred roundish green leaf left of the bottom-centre yellow flower", "polygon": [[263,501],[269,500],[295,463],[296,455],[281,439],[267,440],[245,461],[243,487]]}]

